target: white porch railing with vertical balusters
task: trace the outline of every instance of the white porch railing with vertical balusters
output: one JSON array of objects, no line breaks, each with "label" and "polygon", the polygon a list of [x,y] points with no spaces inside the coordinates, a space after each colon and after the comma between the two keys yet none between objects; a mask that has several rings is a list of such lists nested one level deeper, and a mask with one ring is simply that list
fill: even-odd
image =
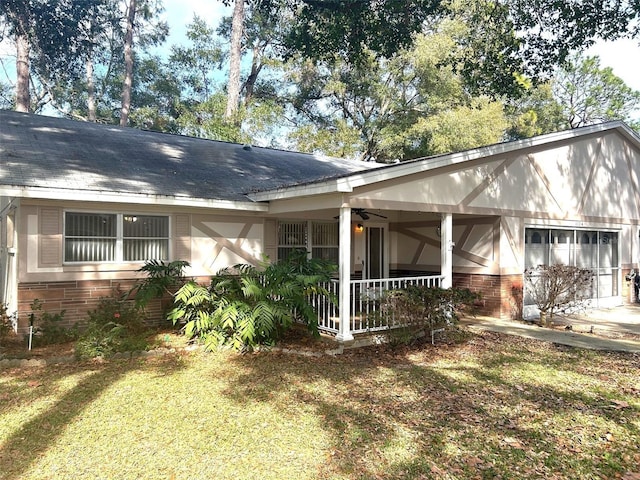
[{"label": "white porch railing with vertical balusters", "polygon": [[[422,277],[379,278],[373,280],[351,280],[351,333],[367,333],[396,326],[393,319],[384,318],[380,311],[380,300],[387,290],[397,290],[410,285],[440,287],[443,275]],[[339,282],[333,280],[326,289],[338,297]],[[332,303],[324,295],[313,295],[311,302],[318,312],[318,329],[329,334],[337,334],[340,315],[337,302]]]}]

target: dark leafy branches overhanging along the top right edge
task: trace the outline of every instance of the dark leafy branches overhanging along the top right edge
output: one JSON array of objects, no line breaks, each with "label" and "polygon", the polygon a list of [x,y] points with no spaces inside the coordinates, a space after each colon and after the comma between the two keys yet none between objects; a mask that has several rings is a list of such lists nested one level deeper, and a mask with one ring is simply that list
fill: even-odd
[{"label": "dark leafy branches overhanging along the top right edge", "polygon": [[[273,0],[264,0],[271,4]],[[335,56],[358,63],[366,50],[389,58],[411,44],[442,15],[456,12],[461,3],[439,0],[289,0],[294,12],[286,37],[290,55],[299,52],[305,58],[331,60]],[[548,78],[553,68],[572,50],[584,48],[595,38],[616,39],[636,36],[640,6],[628,0],[478,0],[466,2],[476,35],[474,43],[497,42],[499,49],[489,58],[465,57],[462,71],[473,76],[493,65],[506,68],[502,78],[514,73],[529,78]],[[465,5],[462,5],[465,7]],[[635,22],[635,23],[634,23]],[[495,28],[485,31],[486,25]],[[486,35],[503,31],[502,35]],[[477,51],[477,49],[474,49]],[[500,52],[501,50],[501,52]],[[500,53],[499,53],[500,52]],[[495,53],[495,54],[494,54]],[[366,54],[364,55],[366,58]],[[482,68],[476,64],[482,60]],[[484,61],[489,60],[489,61]],[[509,81],[504,88],[513,88]]]}]

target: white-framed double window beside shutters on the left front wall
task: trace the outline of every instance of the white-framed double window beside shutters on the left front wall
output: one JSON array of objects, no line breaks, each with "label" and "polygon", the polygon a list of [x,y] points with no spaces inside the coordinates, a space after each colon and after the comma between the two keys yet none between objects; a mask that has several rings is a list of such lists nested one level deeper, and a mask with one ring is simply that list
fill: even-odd
[{"label": "white-framed double window beside shutters on the left front wall", "polygon": [[169,259],[169,217],[66,212],[65,262]]}]

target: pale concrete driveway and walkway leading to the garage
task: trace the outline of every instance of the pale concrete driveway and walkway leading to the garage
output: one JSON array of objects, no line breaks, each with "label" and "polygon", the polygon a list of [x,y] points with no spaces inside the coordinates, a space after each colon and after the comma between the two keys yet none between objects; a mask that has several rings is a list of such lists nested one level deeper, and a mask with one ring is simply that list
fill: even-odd
[{"label": "pale concrete driveway and walkway leading to the garage", "polygon": [[640,353],[640,305],[554,315],[553,320],[554,328],[492,317],[464,318],[461,324],[471,330],[518,335],[576,348]]}]

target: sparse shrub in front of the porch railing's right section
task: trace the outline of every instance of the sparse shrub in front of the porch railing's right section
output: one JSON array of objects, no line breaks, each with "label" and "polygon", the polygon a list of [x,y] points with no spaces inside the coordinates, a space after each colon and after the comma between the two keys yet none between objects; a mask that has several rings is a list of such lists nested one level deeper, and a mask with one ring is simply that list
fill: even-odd
[{"label": "sparse shrub in front of the porch railing's right section", "polygon": [[479,293],[466,288],[409,285],[386,292],[380,311],[390,343],[410,344],[426,333],[454,326],[479,299]]}]

